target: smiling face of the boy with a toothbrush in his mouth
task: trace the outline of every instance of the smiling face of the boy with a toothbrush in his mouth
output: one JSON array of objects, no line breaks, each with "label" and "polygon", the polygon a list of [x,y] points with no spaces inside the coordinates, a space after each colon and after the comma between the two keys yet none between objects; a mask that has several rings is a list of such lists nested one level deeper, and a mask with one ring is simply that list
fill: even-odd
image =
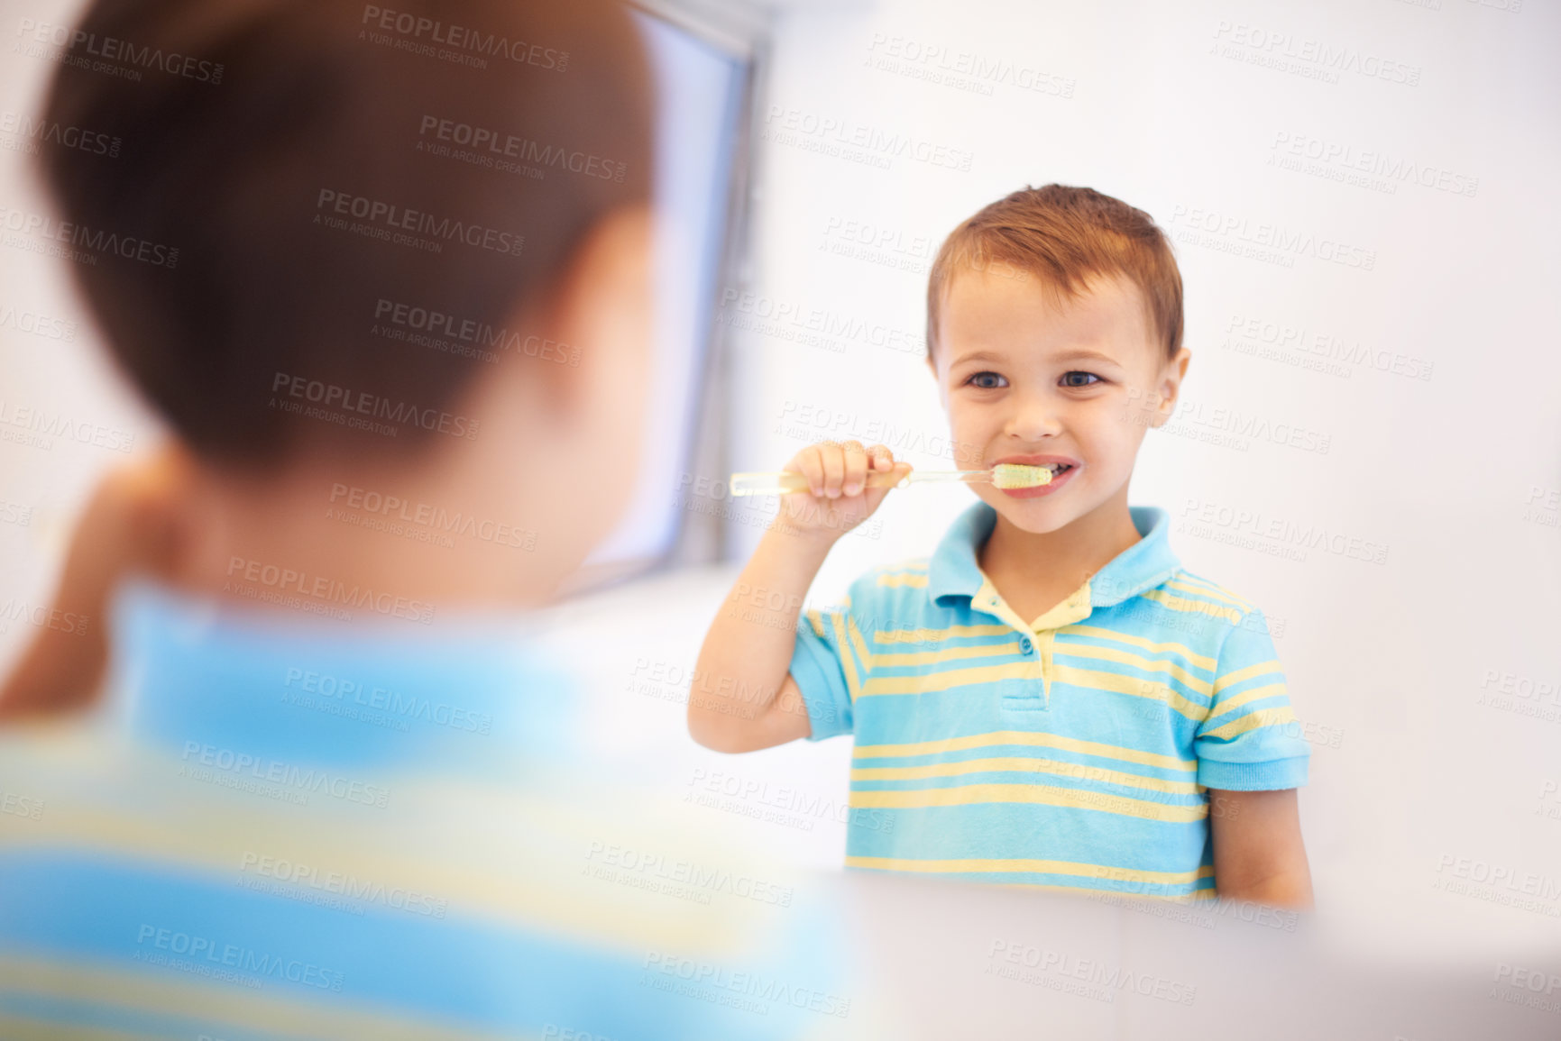
[{"label": "smiling face of the boy with a toothbrush in his mouth", "polygon": [[935,354],[929,364],[962,470],[1069,467],[1038,489],[971,485],[1035,534],[1125,509],[1138,446],[1171,417],[1189,359],[1182,348],[1166,361],[1127,279],[1094,278],[1054,303],[1035,276],[999,265],[952,276]]}]

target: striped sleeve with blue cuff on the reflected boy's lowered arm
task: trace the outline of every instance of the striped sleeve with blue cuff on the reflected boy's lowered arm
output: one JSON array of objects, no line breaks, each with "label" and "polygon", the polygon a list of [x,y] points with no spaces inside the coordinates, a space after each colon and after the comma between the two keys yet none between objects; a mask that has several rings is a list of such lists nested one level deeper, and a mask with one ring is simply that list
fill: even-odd
[{"label": "striped sleeve with blue cuff on the reflected boy's lowered arm", "polygon": [[1285,671],[1263,612],[1252,609],[1225,637],[1214,668],[1214,701],[1193,738],[1197,783],[1271,791],[1307,783],[1311,749],[1289,707]]}]

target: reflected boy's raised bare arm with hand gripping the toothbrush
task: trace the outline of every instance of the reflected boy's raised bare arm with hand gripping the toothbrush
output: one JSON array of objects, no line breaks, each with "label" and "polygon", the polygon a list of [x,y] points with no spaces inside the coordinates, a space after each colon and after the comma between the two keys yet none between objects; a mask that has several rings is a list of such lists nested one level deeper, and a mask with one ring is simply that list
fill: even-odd
[{"label": "reflected boy's raised bare arm with hand gripping the toothbrush", "polygon": [[688,687],[688,734],[718,752],[752,752],[810,737],[807,705],[791,677],[791,654],[802,599],[830,546],[866,520],[888,487],[865,487],[869,471],[894,471],[882,445],[824,442],[804,448],[787,470],[807,476],[810,493],[780,496],[737,585],[699,648]]}]

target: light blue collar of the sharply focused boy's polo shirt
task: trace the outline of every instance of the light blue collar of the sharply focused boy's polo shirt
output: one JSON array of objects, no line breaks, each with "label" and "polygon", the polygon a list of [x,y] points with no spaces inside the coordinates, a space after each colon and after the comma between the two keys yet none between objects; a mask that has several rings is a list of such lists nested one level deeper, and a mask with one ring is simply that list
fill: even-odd
[{"label": "light blue collar of the sharply focused boy's polo shirt", "polygon": [[[1090,579],[1091,607],[1111,607],[1150,590],[1182,567],[1171,551],[1171,518],[1158,506],[1129,506],[1141,538],[1116,554]],[[932,602],[946,598],[969,599],[980,592],[985,574],[976,554],[997,524],[997,510],[983,501],[971,504],[943,535],[927,567],[927,595]]]}]

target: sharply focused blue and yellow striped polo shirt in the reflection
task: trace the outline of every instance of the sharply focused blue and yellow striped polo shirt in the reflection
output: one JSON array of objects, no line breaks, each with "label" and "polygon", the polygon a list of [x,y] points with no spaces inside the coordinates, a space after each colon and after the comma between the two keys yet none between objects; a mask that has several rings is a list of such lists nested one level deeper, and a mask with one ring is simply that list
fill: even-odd
[{"label": "sharply focused blue and yellow striped polo shirt in the reflection", "polygon": [[798,626],[810,740],[851,734],[846,865],[1171,899],[1214,896],[1208,788],[1307,782],[1263,612],[1141,538],[1040,618],[977,563],[971,506]]}]

